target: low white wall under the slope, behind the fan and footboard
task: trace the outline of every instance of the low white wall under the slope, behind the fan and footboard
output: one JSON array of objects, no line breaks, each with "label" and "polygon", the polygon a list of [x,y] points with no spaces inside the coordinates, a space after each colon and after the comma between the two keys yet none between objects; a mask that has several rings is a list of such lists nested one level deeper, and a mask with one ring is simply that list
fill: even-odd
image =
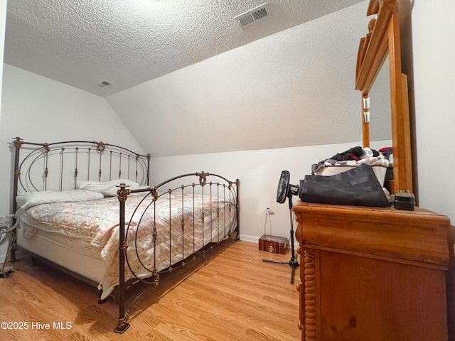
[{"label": "low white wall under the slope, behind the fan and footboard", "polygon": [[[311,165],[346,151],[355,145],[333,144],[277,148],[259,151],[167,156],[151,159],[151,183],[157,184],[181,173],[205,171],[240,180],[240,238],[257,242],[264,234],[265,212],[272,206],[272,231],[267,222],[267,234],[289,237],[289,204],[279,204],[277,187],[283,170],[291,173],[291,184],[311,174]],[[298,200],[294,196],[293,202]]]}]

